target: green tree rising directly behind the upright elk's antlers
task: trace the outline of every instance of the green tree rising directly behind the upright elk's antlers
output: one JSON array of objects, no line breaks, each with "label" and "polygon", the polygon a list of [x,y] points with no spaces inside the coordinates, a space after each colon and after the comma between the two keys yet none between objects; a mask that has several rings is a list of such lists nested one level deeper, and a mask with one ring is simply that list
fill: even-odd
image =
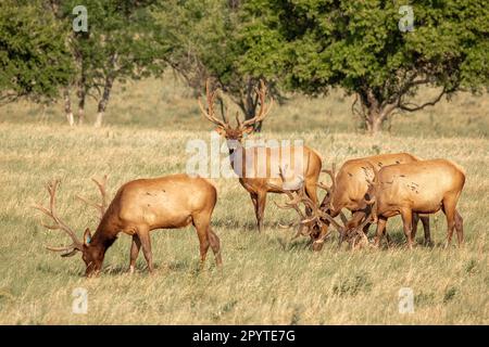
[{"label": "green tree rising directly behind the upright elk's antlers", "polygon": [[[246,37],[240,36],[244,18],[239,0],[166,0],[158,20],[172,44],[167,63],[184,77],[196,94],[212,78],[236,103],[246,119],[254,116],[259,100],[255,88],[267,81],[269,93],[280,100],[275,70],[261,66],[242,69],[247,52]],[[266,40],[266,37],[262,38]],[[260,130],[261,125],[256,125]]]}]

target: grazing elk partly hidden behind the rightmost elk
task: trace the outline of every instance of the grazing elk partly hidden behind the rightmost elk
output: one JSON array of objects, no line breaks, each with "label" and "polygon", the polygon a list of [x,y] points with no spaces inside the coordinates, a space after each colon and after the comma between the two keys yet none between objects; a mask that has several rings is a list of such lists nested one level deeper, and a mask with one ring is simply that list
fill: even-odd
[{"label": "grazing elk partly hidden behind the rightmost elk", "polygon": [[[338,174],[336,174],[335,167],[333,167],[331,170],[324,170],[331,177],[331,187],[327,188],[319,183],[319,187],[328,192],[321,204],[321,208],[331,217],[341,215],[343,223],[346,222],[346,218],[341,214],[341,210],[347,208],[353,215],[353,218],[349,223],[358,224],[358,221],[368,214],[369,206],[365,204],[364,196],[368,190],[367,181],[374,177],[374,171],[390,165],[408,164],[418,160],[419,158],[409,153],[380,154],[347,160],[341,166]],[[417,221],[419,218],[425,231],[425,243],[429,244],[431,240],[428,216],[418,217],[417,214],[414,214],[413,230],[417,229]],[[327,220],[325,222],[328,224]],[[364,234],[368,233],[369,226],[369,222],[364,224]],[[349,226],[347,224],[346,230],[348,229]],[[327,232],[327,228],[324,229],[324,232]],[[340,242],[343,236],[344,235],[340,235]],[[388,234],[387,239],[389,241]]]}]

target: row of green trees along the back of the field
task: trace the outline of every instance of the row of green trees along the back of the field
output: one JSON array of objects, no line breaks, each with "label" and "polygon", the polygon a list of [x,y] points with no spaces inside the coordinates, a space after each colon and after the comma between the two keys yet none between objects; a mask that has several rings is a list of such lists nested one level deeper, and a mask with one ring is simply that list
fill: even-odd
[{"label": "row of green trees along the back of the field", "polygon": [[[88,31],[75,33],[77,5]],[[369,132],[394,114],[489,86],[489,8],[485,0],[2,0],[0,105],[64,101],[71,125],[87,99],[103,121],[115,82],[160,78],[172,68],[201,93],[210,77],[247,117],[265,79],[272,94],[353,95]],[[409,20],[409,18],[408,18]],[[419,88],[436,93],[419,94]],[[416,102],[414,102],[416,100]]]}]

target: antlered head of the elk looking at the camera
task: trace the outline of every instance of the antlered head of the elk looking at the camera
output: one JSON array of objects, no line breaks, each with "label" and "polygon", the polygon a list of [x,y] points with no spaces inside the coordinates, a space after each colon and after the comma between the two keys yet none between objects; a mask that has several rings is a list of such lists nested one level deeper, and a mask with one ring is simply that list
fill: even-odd
[{"label": "antlered head of the elk looking at the camera", "polygon": [[[208,107],[205,108],[202,105],[201,99],[199,98],[199,107],[202,112],[202,115],[213,124],[215,124],[217,127],[215,128],[215,131],[217,131],[218,134],[224,137],[227,140],[228,144],[231,144],[233,142],[241,142],[244,134],[252,133],[254,131],[255,124],[262,121],[265,119],[265,117],[268,115],[269,110],[273,105],[273,99],[271,100],[269,104],[265,104],[266,100],[266,87],[263,80],[260,80],[260,88],[255,88],[256,98],[260,101],[260,106],[258,113],[254,115],[253,118],[247,119],[241,121],[239,119],[238,113],[236,114],[236,127],[231,127],[229,124],[229,119],[227,117],[227,108],[223,111],[223,120],[217,118],[215,116],[214,111],[214,104],[215,99],[217,97],[217,89],[211,90],[210,87],[210,80],[208,79],[205,83],[205,94],[206,94],[206,104]],[[231,146],[229,146],[231,147]]]}]

